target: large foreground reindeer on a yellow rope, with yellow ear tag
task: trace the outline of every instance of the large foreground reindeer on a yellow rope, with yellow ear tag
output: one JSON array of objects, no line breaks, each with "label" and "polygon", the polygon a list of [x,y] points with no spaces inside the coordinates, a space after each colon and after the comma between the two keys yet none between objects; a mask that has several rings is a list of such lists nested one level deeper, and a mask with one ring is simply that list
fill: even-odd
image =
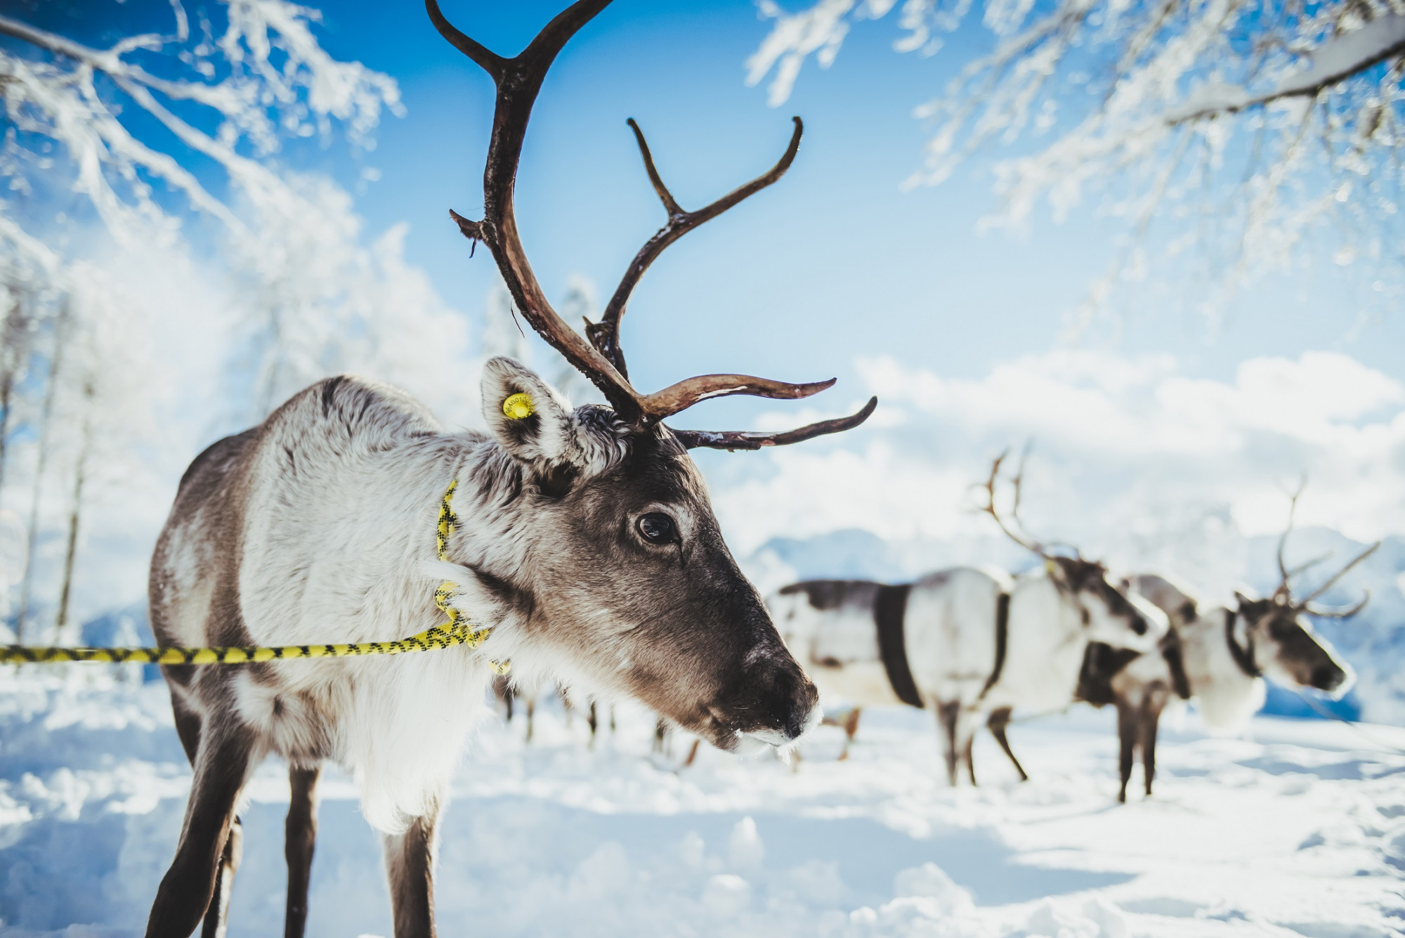
[{"label": "large foreground reindeer on a yellow rope, with yellow ear tag", "polygon": [[[513,190],[532,103],[566,41],[608,0],[582,0],[516,58],[454,28],[440,34],[492,76],[482,242],[517,310],[610,406],[572,407],[507,358],[483,366],[489,431],[448,432],[407,395],[362,378],[298,393],[263,424],[201,454],[181,480],[152,559],[162,645],[393,640],[448,615],[471,645],[398,657],[166,667],[194,767],[176,858],[146,934],[223,934],[239,865],[240,792],[268,754],[289,765],[285,935],[306,920],[316,785],[333,761],[360,782],[382,833],[396,938],[434,934],[433,865],[448,779],[488,712],[493,661],[524,684],[559,677],[645,702],[724,750],[783,746],[819,719],[818,694],[728,552],[694,447],[757,449],[856,427],[857,414],[788,432],[673,430],[663,421],[721,395],[808,397],[833,382],[688,378],[656,393],[629,383],[620,319],[659,253],[790,167],[687,212],[645,170],[669,220],[635,257],[589,341],[547,302],[517,233]],[[440,518],[440,524],[436,524]],[[436,588],[437,583],[445,583]]]}]

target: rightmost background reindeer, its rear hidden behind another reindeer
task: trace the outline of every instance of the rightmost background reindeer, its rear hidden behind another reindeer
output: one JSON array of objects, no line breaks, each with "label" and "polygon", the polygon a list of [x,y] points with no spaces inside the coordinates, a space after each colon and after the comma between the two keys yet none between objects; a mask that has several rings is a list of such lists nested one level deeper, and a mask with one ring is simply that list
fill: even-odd
[{"label": "rightmost background reindeer, its rear hidden behind another reindeer", "polygon": [[[1130,577],[1132,590],[1161,607],[1179,636],[1183,673],[1176,674],[1176,659],[1145,654],[1132,660],[1106,653],[1087,670],[1086,684],[1107,687],[1110,699],[1093,704],[1117,706],[1118,774],[1117,800],[1127,800],[1137,750],[1142,754],[1146,795],[1156,777],[1156,729],[1169,688],[1183,682],[1180,696],[1196,701],[1205,725],[1217,732],[1235,732],[1263,706],[1264,675],[1284,687],[1305,687],[1328,694],[1345,694],[1352,685],[1352,671],[1336,657],[1326,639],[1316,635],[1304,614],[1316,618],[1349,618],[1366,608],[1370,593],[1346,609],[1324,609],[1312,601],[1331,590],[1346,573],[1368,557],[1380,542],[1370,545],[1322,586],[1302,600],[1293,598],[1295,576],[1324,562],[1316,557],[1288,569],[1284,549],[1293,532],[1298,496],[1288,507],[1288,524],[1279,538],[1279,586],[1267,600],[1235,593],[1235,608],[1220,607],[1200,612],[1190,593],[1166,577],[1141,574]],[[1080,685],[1080,689],[1083,685]],[[1090,696],[1085,691],[1085,699]]]}]

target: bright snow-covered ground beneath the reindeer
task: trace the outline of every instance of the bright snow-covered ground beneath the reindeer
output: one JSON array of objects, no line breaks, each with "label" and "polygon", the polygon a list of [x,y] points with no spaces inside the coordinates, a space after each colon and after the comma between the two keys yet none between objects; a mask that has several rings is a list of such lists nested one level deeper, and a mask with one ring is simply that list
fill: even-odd
[{"label": "bright snow-covered ground beneath the reindeer", "polygon": [[[705,750],[676,771],[645,715],[587,750],[558,706],[490,723],[444,824],[444,935],[1405,934],[1405,730],[1260,718],[1253,740],[1168,727],[1156,795],[1114,803],[1110,715],[1012,729],[1034,779],[978,744],[979,789],[937,781],[930,715],[808,737],[797,771]],[[188,774],[160,684],[0,674],[0,937],[140,934]],[[1135,786],[1135,784],[1134,784]],[[282,768],[243,810],[230,935],[281,934]],[[323,785],[311,935],[388,935],[377,838]]]}]

